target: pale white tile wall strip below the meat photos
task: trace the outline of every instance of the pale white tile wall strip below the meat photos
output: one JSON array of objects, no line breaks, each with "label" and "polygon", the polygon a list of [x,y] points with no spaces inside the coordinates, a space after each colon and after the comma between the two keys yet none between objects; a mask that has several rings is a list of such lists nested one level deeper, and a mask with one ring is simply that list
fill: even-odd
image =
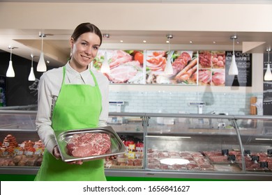
[{"label": "pale white tile wall strip below the meat photos", "polygon": [[[262,100],[262,93],[183,93],[181,92],[109,92],[109,101],[122,100],[121,111],[147,113],[184,113],[197,114],[198,107],[189,107],[189,102],[205,102],[203,114],[211,111],[217,113],[248,115],[250,114],[250,98],[256,96]],[[116,106],[110,105],[109,111],[116,111]]]}]

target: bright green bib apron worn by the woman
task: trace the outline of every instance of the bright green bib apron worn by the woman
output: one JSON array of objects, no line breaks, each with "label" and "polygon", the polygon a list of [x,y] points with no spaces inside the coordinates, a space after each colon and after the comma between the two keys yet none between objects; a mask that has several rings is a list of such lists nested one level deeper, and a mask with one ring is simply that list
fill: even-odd
[{"label": "bright green bib apron worn by the woman", "polygon": [[[63,82],[59,97],[56,100],[52,114],[52,128],[54,131],[78,130],[98,127],[102,109],[101,94],[96,77],[91,72],[95,86],[86,84],[65,84],[63,67]],[[83,164],[67,164],[56,159],[47,150],[43,154],[43,163],[40,166],[35,180],[52,181],[84,181],[106,180],[104,159],[91,160]]]}]

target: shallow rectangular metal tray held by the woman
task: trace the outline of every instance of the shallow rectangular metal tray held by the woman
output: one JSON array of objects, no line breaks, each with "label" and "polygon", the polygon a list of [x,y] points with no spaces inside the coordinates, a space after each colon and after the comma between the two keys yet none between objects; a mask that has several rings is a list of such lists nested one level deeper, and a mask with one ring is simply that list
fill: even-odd
[{"label": "shallow rectangular metal tray held by the woman", "polygon": [[[66,148],[68,141],[73,137],[74,134],[81,134],[81,133],[109,134],[110,141],[111,141],[110,150],[104,155],[93,155],[90,157],[73,157],[71,155],[68,155],[68,150]],[[65,132],[57,131],[57,132],[54,132],[54,134],[55,134],[56,143],[59,146],[59,151],[61,153],[61,159],[64,162],[71,162],[75,160],[87,161],[87,160],[93,160],[93,159],[102,159],[107,156],[121,155],[123,153],[126,153],[126,146],[123,144],[118,134],[116,134],[116,132],[110,126],[90,128],[90,129],[84,129],[84,130],[68,130]]]}]

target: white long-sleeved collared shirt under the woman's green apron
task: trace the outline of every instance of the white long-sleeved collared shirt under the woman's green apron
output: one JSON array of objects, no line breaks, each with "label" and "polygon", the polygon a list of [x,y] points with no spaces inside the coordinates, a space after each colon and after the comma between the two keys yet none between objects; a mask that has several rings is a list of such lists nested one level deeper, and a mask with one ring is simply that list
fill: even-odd
[{"label": "white long-sleeved collared shirt under the woman's green apron", "polygon": [[[107,125],[109,113],[109,81],[105,75],[96,70],[91,70],[96,77],[100,93],[102,95],[102,111],[99,118],[99,127]],[[38,111],[36,117],[36,130],[40,139],[45,144],[47,150],[52,153],[56,140],[54,138],[54,130],[52,129],[52,111],[54,103],[59,96],[61,84],[63,81],[63,67],[54,68],[43,73],[38,84]],[[66,84],[89,84],[94,86],[91,72],[77,72],[66,64]]]}]

